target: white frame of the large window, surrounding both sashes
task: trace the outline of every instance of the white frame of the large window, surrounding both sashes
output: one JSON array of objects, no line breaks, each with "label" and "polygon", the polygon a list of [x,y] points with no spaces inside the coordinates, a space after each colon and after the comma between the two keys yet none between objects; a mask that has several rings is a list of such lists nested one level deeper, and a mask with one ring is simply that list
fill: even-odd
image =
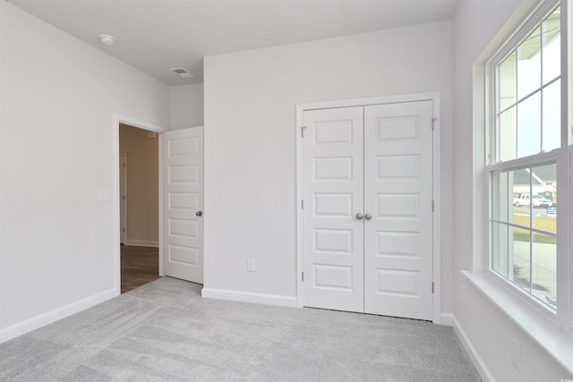
[{"label": "white frame of the large window, surrounding both sashes", "polygon": [[[543,152],[529,157],[520,157],[506,162],[494,163],[498,155],[498,147],[496,142],[496,120],[497,120],[497,73],[496,68],[515,48],[525,39],[535,28],[558,6],[561,6],[561,146],[558,149],[553,149],[550,152]],[[568,27],[569,13],[567,0],[545,0],[541,2],[531,13],[525,22],[523,22],[516,31],[510,35],[504,44],[492,55],[489,61],[485,64],[485,176],[484,182],[487,195],[488,213],[484,219],[485,232],[488,242],[487,256],[483,259],[484,272],[490,279],[496,280],[503,284],[512,293],[516,299],[526,301],[526,304],[532,308],[532,314],[541,314],[544,318],[549,319],[561,331],[568,335],[573,335],[573,256],[571,256],[571,241],[569,237],[572,233],[572,226],[569,225],[569,220],[572,219],[573,214],[570,209],[570,189],[573,187],[573,176],[569,176],[570,161],[573,160],[573,151],[569,155],[570,134],[569,134],[569,104],[568,89],[571,89],[568,68],[569,58],[571,56],[571,49],[568,49],[568,41],[570,41],[570,32]],[[516,97],[517,94],[516,94]],[[557,192],[560,198],[560,208],[558,208],[558,241],[557,241],[557,312],[545,306],[543,302],[536,301],[536,299],[529,293],[521,291],[521,289],[506,277],[499,275],[492,270],[492,174],[498,170],[515,169],[519,166],[535,166],[536,164],[547,163],[548,161],[555,161],[557,163]],[[563,200],[563,202],[561,202]],[[510,272],[511,269],[508,269]],[[567,329],[566,329],[567,328]]]}]

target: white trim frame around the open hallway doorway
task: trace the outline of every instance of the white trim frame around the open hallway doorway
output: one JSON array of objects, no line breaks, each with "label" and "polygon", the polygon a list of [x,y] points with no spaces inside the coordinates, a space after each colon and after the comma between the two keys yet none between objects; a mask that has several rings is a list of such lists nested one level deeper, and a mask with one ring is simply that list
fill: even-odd
[{"label": "white trim frame around the open hallway doorway", "polygon": [[[121,245],[120,241],[121,238],[119,237],[119,229],[121,226],[120,217],[119,217],[119,124],[125,123],[129,124],[130,126],[137,127],[139,129],[147,130],[150,132],[158,132],[158,156],[159,156],[159,185],[163,184],[163,172],[161,168],[163,166],[162,157],[162,141],[163,141],[163,134],[162,132],[166,132],[161,126],[153,123],[147,123],[144,121],[140,121],[136,118],[132,118],[126,115],[120,115],[114,113],[112,115],[113,123],[112,123],[112,153],[113,153],[113,160],[112,160],[112,174],[114,174],[114,182],[111,191],[111,200],[112,200],[112,229],[114,233],[114,280],[115,280],[115,295],[119,295],[122,293],[122,286],[121,286]],[[159,275],[163,276],[163,250],[161,250],[161,245],[163,244],[163,189],[159,186]]]}]

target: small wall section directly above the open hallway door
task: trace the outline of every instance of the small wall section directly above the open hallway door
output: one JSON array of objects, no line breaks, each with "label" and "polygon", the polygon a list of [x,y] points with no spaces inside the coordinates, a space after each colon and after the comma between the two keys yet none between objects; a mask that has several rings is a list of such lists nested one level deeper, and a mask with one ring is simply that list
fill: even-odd
[{"label": "small wall section directly above the open hallway door", "polygon": [[171,130],[203,125],[203,84],[169,88]]}]

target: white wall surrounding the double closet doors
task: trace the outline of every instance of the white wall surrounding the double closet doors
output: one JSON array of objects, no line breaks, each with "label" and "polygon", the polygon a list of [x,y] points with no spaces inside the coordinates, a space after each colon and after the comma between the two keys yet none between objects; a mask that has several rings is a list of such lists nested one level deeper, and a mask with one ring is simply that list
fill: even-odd
[{"label": "white wall surrounding the double closet doors", "polygon": [[295,106],[440,91],[442,311],[452,311],[451,22],[210,56],[204,83],[205,287],[290,298]]}]

